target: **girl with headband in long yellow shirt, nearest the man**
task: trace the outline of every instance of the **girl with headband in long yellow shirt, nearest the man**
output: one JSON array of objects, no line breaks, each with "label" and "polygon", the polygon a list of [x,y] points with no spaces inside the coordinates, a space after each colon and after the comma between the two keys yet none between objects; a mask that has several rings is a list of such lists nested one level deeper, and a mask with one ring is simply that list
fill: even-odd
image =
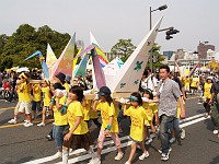
[{"label": "girl with headband in long yellow shirt, nearest the man", "polygon": [[126,104],[124,105],[124,115],[130,116],[130,134],[129,138],[131,142],[131,151],[129,159],[125,164],[130,164],[132,157],[136,153],[137,145],[140,145],[142,150],[142,155],[139,156],[139,160],[143,160],[149,156],[148,151],[145,148],[145,121],[149,120],[146,109],[142,107],[142,98],[138,92],[131,93],[130,97],[130,107],[126,109]]}]

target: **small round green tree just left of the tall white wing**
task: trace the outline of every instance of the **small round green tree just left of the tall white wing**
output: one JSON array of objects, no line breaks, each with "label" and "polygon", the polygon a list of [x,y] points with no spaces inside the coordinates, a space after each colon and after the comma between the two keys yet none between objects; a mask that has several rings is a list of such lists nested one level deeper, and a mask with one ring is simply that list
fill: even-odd
[{"label": "small round green tree just left of the tall white wing", "polygon": [[136,46],[131,44],[131,39],[119,39],[117,44],[115,44],[112,49],[112,55],[122,55],[122,60],[126,61],[128,57],[132,54],[136,49]]}]

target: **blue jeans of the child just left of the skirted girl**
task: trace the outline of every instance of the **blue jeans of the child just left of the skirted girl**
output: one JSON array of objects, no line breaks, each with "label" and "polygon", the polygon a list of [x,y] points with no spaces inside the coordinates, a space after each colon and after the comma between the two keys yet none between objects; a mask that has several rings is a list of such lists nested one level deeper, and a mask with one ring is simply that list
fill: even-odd
[{"label": "blue jeans of the child just left of the skirted girl", "polygon": [[55,139],[56,147],[58,150],[62,149],[64,143],[64,129],[66,126],[55,126],[53,128],[53,138]]}]

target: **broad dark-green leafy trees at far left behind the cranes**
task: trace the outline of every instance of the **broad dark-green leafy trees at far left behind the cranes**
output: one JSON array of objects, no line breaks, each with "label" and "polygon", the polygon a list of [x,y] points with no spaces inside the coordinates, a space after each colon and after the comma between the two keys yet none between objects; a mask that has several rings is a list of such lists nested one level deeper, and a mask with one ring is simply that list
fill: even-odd
[{"label": "broad dark-green leafy trees at far left behind the cranes", "polygon": [[41,68],[38,58],[27,61],[24,59],[36,50],[41,50],[46,56],[48,43],[58,58],[69,39],[69,34],[61,34],[47,25],[36,30],[28,24],[22,24],[11,36],[0,35],[0,71],[16,66]]}]

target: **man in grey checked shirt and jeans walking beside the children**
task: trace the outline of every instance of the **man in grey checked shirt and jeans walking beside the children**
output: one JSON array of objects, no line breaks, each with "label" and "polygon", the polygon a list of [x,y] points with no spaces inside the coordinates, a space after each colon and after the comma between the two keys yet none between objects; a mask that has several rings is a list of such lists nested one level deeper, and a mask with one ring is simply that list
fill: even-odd
[{"label": "man in grey checked shirt and jeans walking beside the children", "polygon": [[[178,84],[169,78],[170,68],[163,65],[159,69],[161,83],[158,87],[158,95],[151,102],[159,102],[160,119],[160,141],[161,141],[161,160],[168,161],[170,155],[169,125],[173,124],[177,114],[177,101],[181,106],[181,118],[185,118],[185,108],[182,99],[182,92]],[[150,102],[150,101],[149,101]],[[178,134],[178,131],[176,132]]]}]

